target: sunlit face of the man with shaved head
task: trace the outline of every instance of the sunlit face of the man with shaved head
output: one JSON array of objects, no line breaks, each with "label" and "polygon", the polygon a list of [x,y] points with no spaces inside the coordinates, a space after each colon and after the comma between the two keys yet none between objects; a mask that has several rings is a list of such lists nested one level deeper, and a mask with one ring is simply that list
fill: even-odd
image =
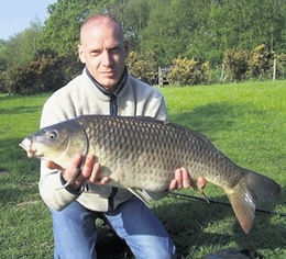
[{"label": "sunlit face of the man with shaved head", "polygon": [[108,24],[88,26],[81,32],[80,42],[80,60],[102,87],[114,91],[129,54],[128,43],[118,27]]}]

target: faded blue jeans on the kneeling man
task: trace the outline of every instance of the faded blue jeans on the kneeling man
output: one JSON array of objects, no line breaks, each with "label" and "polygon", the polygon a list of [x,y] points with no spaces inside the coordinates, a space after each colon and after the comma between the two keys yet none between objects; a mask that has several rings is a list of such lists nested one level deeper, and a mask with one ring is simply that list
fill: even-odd
[{"label": "faded blue jeans on the kneeling man", "polygon": [[[56,259],[96,259],[97,213],[73,202],[61,212],[51,211]],[[175,246],[154,214],[133,196],[117,210],[103,213],[108,224],[123,238],[136,258],[175,258]]]}]

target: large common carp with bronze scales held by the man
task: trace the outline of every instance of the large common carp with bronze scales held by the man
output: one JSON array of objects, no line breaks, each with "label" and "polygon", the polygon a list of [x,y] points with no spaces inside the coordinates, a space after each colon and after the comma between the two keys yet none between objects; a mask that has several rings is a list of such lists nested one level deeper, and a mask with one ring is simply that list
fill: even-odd
[{"label": "large common carp with bronze scales held by the man", "polygon": [[65,168],[76,154],[94,154],[108,184],[161,192],[174,171],[185,167],[197,188],[199,176],[227,193],[238,221],[249,233],[255,203],[280,191],[279,184],[234,164],[204,135],[151,117],[82,115],[44,127],[20,144],[29,157],[48,159]]}]

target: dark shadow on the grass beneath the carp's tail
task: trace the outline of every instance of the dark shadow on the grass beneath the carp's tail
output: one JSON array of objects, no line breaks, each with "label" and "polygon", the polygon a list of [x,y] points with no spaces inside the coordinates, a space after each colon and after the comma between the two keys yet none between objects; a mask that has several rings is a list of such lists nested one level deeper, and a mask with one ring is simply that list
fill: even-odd
[{"label": "dark shadow on the grass beneath the carp's tail", "polygon": [[[216,200],[227,202],[226,196]],[[258,207],[272,212],[277,204],[285,204],[283,202],[285,200],[284,190],[277,200],[260,204]],[[188,256],[186,252],[189,247],[219,245],[223,248],[232,243],[239,249],[275,250],[285,247],[285,238],[282,238],[286,233],[285,214],[278,216],[256,212],[252,229],[248,235],[240,227],[231,206],[179,199],[169,205],[158,206],[156,214],[169,232],[180,256]],[[274,217],[275,223],[272,222]],[[221,226],[220,222],[222,222]]]}]

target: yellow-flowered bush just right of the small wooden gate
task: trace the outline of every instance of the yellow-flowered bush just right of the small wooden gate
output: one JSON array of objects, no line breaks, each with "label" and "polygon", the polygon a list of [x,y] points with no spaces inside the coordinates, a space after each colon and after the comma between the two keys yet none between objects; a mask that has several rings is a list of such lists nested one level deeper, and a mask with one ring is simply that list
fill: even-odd
[{"label": "yellow-flowered bush just right of the small wooden gate", "polygon": [[173,83],[180,86],[209,83],[209,63],[199,63],[194,58],[175,58],[168,78]]}]

